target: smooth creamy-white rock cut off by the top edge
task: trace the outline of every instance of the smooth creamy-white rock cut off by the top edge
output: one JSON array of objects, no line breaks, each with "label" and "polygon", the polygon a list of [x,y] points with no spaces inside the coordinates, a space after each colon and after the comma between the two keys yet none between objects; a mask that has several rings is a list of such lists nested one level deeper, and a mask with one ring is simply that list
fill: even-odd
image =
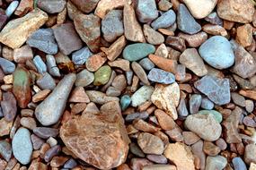
[{"label": "smooth creamy-white rock cut off by the top edge", "polygon": [[207,0],[207,1],[192,1],[185,0],[184,3],[189,8],[190,13],[196,19],[205,18],[209,13],[211,13],[217,3],[217,0]]}]

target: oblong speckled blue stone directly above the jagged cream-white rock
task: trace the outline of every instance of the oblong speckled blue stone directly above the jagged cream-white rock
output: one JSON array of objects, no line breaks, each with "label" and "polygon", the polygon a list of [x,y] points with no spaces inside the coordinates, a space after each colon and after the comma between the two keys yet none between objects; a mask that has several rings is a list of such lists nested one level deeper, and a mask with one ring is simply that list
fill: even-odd
[{"label": "oblong speckled blue stone directly above the jagged cream-white rock", "polygon": [[175,76],[171,72],[165,72],[161,69],[153,68],[147,75],[149,81],[162,84],[172,84],[175,81]]}]

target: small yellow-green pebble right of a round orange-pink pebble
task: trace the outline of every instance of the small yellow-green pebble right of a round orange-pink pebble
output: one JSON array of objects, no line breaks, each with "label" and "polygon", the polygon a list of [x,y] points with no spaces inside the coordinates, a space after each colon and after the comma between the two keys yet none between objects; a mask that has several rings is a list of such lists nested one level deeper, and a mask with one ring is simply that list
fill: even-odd
[{"label": "small yellow-green pebble right of a round orange-pink pebble", "polygon": [[94,86],[101,86],[110,80],[111,68],[109,65],[102,66],[99,70],[94,72]]}]

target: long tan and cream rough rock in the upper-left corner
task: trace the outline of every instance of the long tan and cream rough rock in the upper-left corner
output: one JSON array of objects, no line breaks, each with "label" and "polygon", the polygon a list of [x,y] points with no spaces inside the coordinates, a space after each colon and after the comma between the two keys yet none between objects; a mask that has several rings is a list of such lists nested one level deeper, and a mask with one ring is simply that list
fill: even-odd
[{"label": "long tan and cream rough rock in the upper-left corner", "polygon": [[48,20],[48,14],[37,9],[22,18],[9,21],[0,33],[0,42],[12,48],[22,47],[31,33]]}]

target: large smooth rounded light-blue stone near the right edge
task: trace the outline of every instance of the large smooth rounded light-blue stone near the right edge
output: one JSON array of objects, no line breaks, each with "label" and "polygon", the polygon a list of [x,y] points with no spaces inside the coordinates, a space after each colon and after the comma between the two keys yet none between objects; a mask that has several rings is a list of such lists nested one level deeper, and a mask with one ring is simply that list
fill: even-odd
[{"label": "large smooth rounded light-blue stone near the right edge", "polygon": [[208,38],[200,47],[199,54],[216,69],[226,69],[234,64],[234,51],[230,42],[222,36]]}]

